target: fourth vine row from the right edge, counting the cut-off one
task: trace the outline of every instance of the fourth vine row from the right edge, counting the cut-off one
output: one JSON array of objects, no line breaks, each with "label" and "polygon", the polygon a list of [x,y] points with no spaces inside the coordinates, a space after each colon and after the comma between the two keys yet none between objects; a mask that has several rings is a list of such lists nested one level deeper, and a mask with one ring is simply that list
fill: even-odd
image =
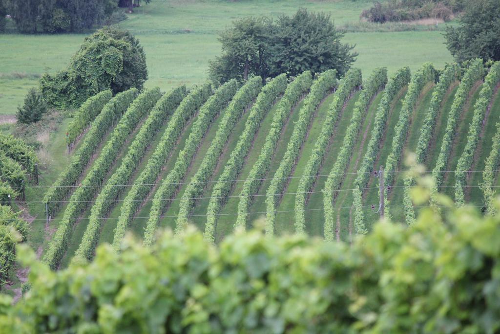
[{"label": "fourth vine row from the right edge, counting the cut-off one", "polygon": [[[425,157],[428,154],[428,148],[430,140],[434,134],[434,129],[436,126],[437,118],[441,111],[442,100],[446,95],[451,84],[457,80],[460,74],[460,67],[458,64],[453,63],[447,66],[444,71],[439,76],[439,81],[432,91],[432,96],[430,98],[430,106],[425,115],[422,127],[420,129],[420,137],[418,137],[416,146],[416,163],[423,164],[425,162]],[[403,189],[403,205],[404,205],[404,216],[406,224],[409,226],[415,221],[415,210],[413,209],[413,203],[410,197],[410,189],[415,185],[415,180],[412,176],[407,176],[404,178],[404,189]]]}]

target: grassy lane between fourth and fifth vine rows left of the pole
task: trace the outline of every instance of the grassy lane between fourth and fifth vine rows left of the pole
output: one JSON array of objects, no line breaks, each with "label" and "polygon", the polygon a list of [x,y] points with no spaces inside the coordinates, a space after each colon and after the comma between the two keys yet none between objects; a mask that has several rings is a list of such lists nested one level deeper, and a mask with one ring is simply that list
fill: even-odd
[{"label": "grassy lane between fourth and fifth vine rows left of the pole", "polygon": [[[269,184],[271,183],[271,179],[272,179],[274,173],[276,172],[276,169],[279,167],[279,164],[281,162],[281,159],[284,156],[284,153],[286,152],[286,146],[288,145],[288,141],[289,141],[291,134],[293,132],[294,124],[298,120],[298,114],[299,114],[300,108],[302,108],[302,105],[303,105],[303,99],[300,100],[300,102],[292,110],[290,117],[288,118],[288,121],[287,121],[286,125],[284,126],[283,132],[281,133],[281,137],[279,138],[279,140],[276,144],[276,150],[274,152],[274,157],[272,158],[269,170],[267,171],[267,174],[264,177],[266,180],[262,181],[262,184],[260,186],[260,189],[258,190],[257,196],[254,196],[253,203],[250,205],[250,208],[248,209],[248,219],[247,219],[247,227],[248,228],[250,228],[256,220],[261,220],[261,219],[265,218],[265,213],[255,214],[252,212],[265,212],[265,210],[266,210],[266,208],[265,208],[265,194],[266,194],[267,188],[269,187]],[[265,138],[264,138],[264,140],[265,140]],[[258,157],[258,154],[257,154],[257,157]],[[234,193],[234,194],[236,194],[236,193]],[[237,203],[236,203],[235,207],[236,207],[236,211],[234,211],[234,212],[237,212]],[[279,233],[279,230],[276,229],[276,232]]]}]

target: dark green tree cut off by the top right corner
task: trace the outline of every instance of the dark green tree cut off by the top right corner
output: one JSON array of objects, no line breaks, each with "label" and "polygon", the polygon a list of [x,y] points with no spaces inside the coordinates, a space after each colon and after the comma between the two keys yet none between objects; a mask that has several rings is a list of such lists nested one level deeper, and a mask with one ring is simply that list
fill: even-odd
[{"label": "dark green tree cut off by the top right corner", "polygon": [[500,60],[500,1],[468,2],[457,28],[446,28],[446,46],[457,62]]}]

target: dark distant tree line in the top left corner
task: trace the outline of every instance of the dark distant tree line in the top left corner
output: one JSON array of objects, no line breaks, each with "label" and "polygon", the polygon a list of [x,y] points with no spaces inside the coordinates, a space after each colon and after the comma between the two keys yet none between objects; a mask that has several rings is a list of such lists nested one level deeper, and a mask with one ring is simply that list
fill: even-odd
[{"label": "dark distant tree line in the top left corner", "polygon": [[118,7],[131,12],[139,5],[140,0],[0,0],[0,32],[10,17],[24,34],[79,33],[124,20]]}]

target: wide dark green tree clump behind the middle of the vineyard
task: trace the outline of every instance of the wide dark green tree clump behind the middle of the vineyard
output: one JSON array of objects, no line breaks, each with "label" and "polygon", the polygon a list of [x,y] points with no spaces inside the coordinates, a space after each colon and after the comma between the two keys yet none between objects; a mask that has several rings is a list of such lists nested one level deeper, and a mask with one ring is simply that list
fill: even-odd
[{"label": "wide dark green tree clump behind the middle of the vineyard", "polygon": [[266,17],[241,19],[220,34],[222,55],[209,63],[210,78],[223,83],[327,69],[343,75],[357,54],[354,46],[341,43],[342,37],[329,16],[305,9],[275,23]]}]

